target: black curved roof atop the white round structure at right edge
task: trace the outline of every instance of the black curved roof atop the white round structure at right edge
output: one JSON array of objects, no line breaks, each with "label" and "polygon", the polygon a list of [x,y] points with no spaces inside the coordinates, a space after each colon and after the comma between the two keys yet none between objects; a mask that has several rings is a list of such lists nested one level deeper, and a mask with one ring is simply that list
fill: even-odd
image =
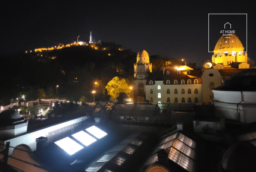
[{"label": "black curved roof atop the white round structure at right edge", "polygon": [[219,91],[256,91],[256,69],[243,69],[229,79],[224,84],[213,90]]}]

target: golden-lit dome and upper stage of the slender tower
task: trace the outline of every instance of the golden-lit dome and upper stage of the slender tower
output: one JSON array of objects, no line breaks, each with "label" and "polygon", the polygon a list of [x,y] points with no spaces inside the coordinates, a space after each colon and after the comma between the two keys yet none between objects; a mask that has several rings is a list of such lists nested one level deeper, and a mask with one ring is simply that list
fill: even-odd
[{"label": "golden-lit dome and upper stage of the slender tower", "polygon": [[149,56],[145,50],[141,50],[137,55],[137,62],[134,64],[134,77],[143,79],[152,72],[152,63],[149,63]]}]

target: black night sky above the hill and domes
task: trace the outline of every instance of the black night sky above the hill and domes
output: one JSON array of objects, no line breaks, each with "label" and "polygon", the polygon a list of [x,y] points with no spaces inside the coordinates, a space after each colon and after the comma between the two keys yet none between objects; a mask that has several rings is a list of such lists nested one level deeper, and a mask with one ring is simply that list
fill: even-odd
[{"label": "black night sky above the hill and domes", "polygon": [[[92,31],[95,42],[115,42],[136,53],[145,49],[149,55],[202,66],[213,55],[208,53],[208,14],[235,13],[248,14],[248,56],[256,60],[255,7],[254,1],[6,1],[0,7],[0,52],[54,46],[46,40],[68,44],[79,35],[89,42]],[[245,47],[246,36],[236,36]],[[210,35],[210,51],[219,38]]]}]

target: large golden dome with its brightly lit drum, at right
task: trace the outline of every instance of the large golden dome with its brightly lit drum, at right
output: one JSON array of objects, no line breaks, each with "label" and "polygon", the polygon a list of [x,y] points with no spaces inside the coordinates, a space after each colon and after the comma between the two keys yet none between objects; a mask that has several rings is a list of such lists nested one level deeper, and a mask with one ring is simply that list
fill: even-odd
[{"label": "large golden dome with its brightly lit drum, at right", "polygon": [[218,63],[227,67],[238,65],[239,63],[247,63],[247,53],[244,53],[243,50],[244,47],[235,34],[221,36],[213,50],[213,66]]}]

